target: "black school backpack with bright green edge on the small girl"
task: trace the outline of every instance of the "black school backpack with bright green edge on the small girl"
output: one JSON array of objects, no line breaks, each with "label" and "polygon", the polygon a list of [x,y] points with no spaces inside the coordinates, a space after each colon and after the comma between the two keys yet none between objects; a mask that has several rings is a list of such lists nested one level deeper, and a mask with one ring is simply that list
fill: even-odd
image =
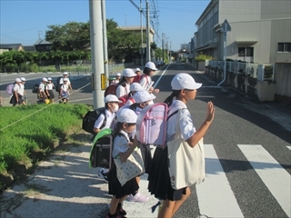
[{"label": "black school backpack with bright green edge on the small girl", "polygon": [[96,134],[89,156],[89,168],[111,168],[111,164],[113,162],[112,147],[115,135],[109,128],[103,129],[98,134]]}]

